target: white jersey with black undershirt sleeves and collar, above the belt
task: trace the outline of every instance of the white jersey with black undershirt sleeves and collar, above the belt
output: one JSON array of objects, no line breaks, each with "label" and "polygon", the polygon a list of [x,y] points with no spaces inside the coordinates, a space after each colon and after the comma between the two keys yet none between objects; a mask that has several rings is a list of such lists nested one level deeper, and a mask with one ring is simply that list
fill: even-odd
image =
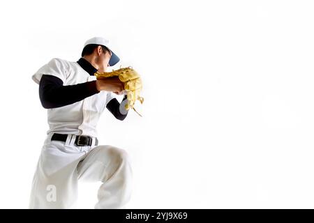
[{"label": "white jersey with black undershirt sleeves and collar, above the belt", "polygon": [[96,71],[83,58],[77,62],[52,59],[32,76],[39,84],[40,102],[47,109],[47,134],[97,137],[96,126],[105,108],[119,120],[126,117],[126,97],[119,103],[111,92],[98,91]]}]

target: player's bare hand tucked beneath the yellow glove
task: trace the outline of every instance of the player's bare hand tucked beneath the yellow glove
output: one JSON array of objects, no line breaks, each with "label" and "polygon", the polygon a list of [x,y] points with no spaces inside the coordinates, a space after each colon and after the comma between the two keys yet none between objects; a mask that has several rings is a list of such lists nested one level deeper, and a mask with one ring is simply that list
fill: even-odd
[{"label": "player's bare hand tucked beneath the yellow glove", "polygon": [[120,94],[124,90],[124,83],[119,77],[108,77],[96,80],[96,88],[98,91],[111,91]]}]

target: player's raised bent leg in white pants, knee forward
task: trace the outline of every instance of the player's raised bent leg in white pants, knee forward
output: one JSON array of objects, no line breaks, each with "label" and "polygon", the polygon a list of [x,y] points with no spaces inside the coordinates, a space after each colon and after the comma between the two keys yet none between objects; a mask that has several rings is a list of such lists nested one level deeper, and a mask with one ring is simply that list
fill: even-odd
[{"label": "player's raised bent leg in white pants, knee forward", "polygon": [[95,208],[124,208],[130,200],[132,169],[128,153],[114,146],[96,146],[77,167],[78,177],[103,182]]}]

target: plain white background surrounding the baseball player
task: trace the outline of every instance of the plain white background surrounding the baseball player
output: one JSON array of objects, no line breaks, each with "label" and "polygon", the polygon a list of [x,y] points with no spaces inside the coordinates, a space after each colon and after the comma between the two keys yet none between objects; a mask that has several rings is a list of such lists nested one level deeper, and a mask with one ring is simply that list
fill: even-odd
[{"label": "plain white background surrounding the baseball player", "polygon": [[[0,208],[27,208],[47,110],[31,80],[105,36],[144,82],[143,118],[106,111],[128,208],[314,208],[313,1],[1,1]],[[93,208],[99,184],[80,185]]]}]

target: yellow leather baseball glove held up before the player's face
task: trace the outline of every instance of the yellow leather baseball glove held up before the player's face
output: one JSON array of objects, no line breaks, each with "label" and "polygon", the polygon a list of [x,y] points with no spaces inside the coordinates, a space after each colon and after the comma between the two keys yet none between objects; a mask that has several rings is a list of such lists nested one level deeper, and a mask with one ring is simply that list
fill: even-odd
[{"label": "yellow leather baseball glove held up before the player's face", "polygon": [[[105,79],[107,77],[119,77],[121,82],[124,82],[124,90],[127,92],[128,103],[126,103],[126,109],[133,109],[137,114],[139,114],[135,108],[134,104],[136,100],[139,100],[141,104],[144,98],[140,97],[140,91],[142,91],[142,80],[140,75],[132,68],[120,68],[119,70],[112,70],[112,72],[96,72],[94,74],[97,79]],[[140,114],[139,114],[140,115]],[[141,116],[141,115],[140,115]]]}]

